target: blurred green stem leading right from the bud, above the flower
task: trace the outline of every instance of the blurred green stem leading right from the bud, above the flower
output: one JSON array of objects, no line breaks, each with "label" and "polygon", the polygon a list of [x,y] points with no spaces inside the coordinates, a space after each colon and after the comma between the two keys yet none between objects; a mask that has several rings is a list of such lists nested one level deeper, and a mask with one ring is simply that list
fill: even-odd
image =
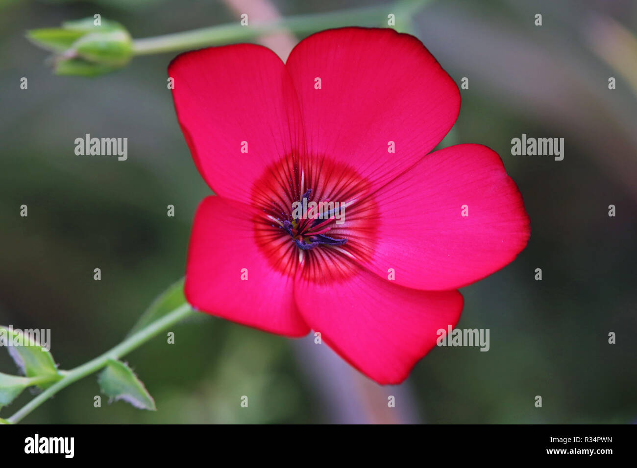
[{"label": "blurred green stem leading right from the bud, above the flower", "polygon": [[132,50],[134,55],[147,55],[245,41],[282,29],[294,33],[304,33],[352,24],[379,26],[385,22],[386,25],[389,13],[410,16],[427,1],[402,0],[396,3],[330,11],[329,13],[297,15],[267,24],[242,26],[239,22],[234,22],[192,31],[176,32],[175,34],[165,34],[154,38],[135,39]]}]

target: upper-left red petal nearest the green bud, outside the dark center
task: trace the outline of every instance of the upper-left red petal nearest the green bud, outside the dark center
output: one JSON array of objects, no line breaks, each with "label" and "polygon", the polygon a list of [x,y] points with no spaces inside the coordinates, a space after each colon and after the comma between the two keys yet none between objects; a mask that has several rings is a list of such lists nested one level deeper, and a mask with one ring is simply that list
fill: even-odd
[{"label": "upper-left red petal nearest the green bud, outside the dark center", "polygon": [[175,109],[190,152],[215,193],[250,202],[266,167],[303,146],[289,73],[268,48],[240,44],[182,53],[168,74],[175,78]]}]

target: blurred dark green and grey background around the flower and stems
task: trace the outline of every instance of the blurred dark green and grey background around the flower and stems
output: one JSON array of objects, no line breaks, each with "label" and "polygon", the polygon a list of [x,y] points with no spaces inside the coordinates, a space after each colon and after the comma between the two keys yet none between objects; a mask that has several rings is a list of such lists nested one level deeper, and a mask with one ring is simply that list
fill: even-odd
[{"label": "blurred dark green and grey background around the flower and stems", "polygon": [[[287,17],[381,3],[270,4]],[[262,0],[245,4],[250,15]],[[183,276],[192,216],[210,191],[166,89],[176,53],[136,57],[99,78],[61,77],[24,33],[101,13],[143,38],[236,22],[233,8],[232,1],[0,1],[0,323],[51,329],[63,369],[119,343]],[[637,420],[637,3],[428,1],[399,18],[399,27],[457,83],[469,78],[442,145],[494,148],[531,217],[531,240],[518,259],[462,289],[458,327],[490,329],[489,352],[436,348],[406,383],[382,387],[311,337],[291,340],[203,316],[175,327],[175,344],[159,336],[124,359],[158,411],[105,401],[94,408],[99,387],[91,376],[25,422]],[[28,90],[20,90],[22,76]],[[86,133],[127,137],[128,160],[76,156],[74,140]],[[564,160],[512,156],[510,141],[522,133],[564,138]],[[19,216],[21,204],[28,218]],[[166,216],[168,204],[175,218]],[[96,267],[101,281],[93,280]],[[542,281],[534,280],[536,268]],[[608,344],[609,332],[617,344]],[[0,371],[15,373],[0,351]],[[248,409],[240,408],[241,395],[249,395]],[[396,396],[395,409],[387,395]],[[535,395],[543,408],[534,407]],[[30,398],[25,392],[0,416]]]}]

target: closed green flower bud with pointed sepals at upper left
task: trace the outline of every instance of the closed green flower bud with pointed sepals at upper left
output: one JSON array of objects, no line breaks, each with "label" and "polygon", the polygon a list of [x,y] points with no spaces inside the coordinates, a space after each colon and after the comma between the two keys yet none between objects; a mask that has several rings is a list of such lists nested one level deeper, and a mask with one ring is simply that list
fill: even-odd
[{"label": "closed green flower bud with pointed sepals at upper left", "polygon": [[32,43],[54,52],[56,74],[96,76],[125,66],[132,57],[132,38],[117,22],[84,18],[61,28],[32,29]]}]

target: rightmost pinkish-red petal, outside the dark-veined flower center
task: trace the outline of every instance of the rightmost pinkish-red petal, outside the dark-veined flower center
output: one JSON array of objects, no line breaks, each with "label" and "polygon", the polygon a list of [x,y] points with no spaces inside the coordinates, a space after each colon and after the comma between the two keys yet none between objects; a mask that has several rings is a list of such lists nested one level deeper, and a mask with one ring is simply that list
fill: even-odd
[{"label": "rightmost pinkish-red petal, outside the dark-veined flower center", "polygon": [[486,146],[431,153],[374,196],[377,245],[364,266],[382,278],[393,268],[406,287],[445,290],[481,280],[512,262],[530,236],[522,195]]}]

